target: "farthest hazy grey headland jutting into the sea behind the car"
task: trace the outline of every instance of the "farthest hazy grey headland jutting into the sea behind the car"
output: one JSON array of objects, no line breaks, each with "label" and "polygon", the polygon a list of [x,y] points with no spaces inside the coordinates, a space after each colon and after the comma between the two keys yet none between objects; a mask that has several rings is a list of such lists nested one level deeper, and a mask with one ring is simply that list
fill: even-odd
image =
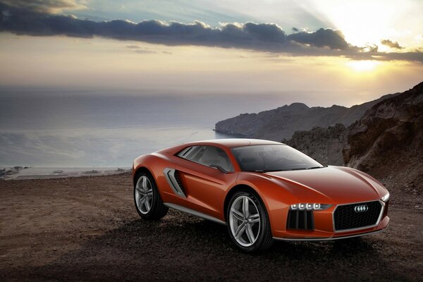
[{"label": "farthest hazy grey headland jutting into the sea behind the car", "polygon": [[328,128],[336,123],[348,126],[357,121],[374,104],[395,95],[386,95],[351,108],[336,105],[329,108],[321,106],[310,108],[302,103],[293,103],[259,114],[241,114],[219,121],[215,125],[215,130],[226,134],[281,141],[283,138],[290,138],[297,130]]}]

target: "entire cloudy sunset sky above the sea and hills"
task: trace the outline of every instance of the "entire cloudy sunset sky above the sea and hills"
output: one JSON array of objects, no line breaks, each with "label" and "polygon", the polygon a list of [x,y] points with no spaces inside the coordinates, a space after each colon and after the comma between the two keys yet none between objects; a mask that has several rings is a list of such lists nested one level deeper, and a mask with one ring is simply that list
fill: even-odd
[{"label": "entire cloudy sunset sky above the sea and hills", "polygon": [[423,1],[0,0],[0,87],[295,95],[423,80]]}]

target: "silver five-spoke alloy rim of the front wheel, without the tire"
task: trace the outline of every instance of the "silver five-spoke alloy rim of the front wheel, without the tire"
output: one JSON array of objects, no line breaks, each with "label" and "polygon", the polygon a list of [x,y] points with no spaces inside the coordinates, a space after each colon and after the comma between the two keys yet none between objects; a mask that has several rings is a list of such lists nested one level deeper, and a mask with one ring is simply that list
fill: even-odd
[{"label": "silver five-spoke alloy rim of the front wheel, without the tire", "polygon": [[240,196],[233,201],[229,225],[238,244],[250,247],[255,243],[260,233],[260,214],[250,197]]}]

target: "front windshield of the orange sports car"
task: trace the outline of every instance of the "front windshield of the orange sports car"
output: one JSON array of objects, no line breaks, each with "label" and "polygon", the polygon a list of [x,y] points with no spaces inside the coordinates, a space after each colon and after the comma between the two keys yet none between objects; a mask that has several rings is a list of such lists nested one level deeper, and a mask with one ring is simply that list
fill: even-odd
[{"label": "front windshield of the orange sports car", "polygon": [[324,167],[287,145],[234,147],[232,153],[243,171],[293,171]]}]

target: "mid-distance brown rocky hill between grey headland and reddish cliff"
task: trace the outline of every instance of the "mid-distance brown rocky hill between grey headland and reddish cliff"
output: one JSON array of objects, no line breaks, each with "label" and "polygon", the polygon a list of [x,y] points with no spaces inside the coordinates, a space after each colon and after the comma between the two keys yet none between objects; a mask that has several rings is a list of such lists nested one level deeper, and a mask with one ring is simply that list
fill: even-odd
[{"label": "mid-distance brown rocky hill between grey headland and reddish cliff", "polygon": [[329,128],[313,128],[296,131],[290,140],[283,143],[300,150],[321,164],[343,165],[343,147],[347,142],[348,129],[341,123]]}]

